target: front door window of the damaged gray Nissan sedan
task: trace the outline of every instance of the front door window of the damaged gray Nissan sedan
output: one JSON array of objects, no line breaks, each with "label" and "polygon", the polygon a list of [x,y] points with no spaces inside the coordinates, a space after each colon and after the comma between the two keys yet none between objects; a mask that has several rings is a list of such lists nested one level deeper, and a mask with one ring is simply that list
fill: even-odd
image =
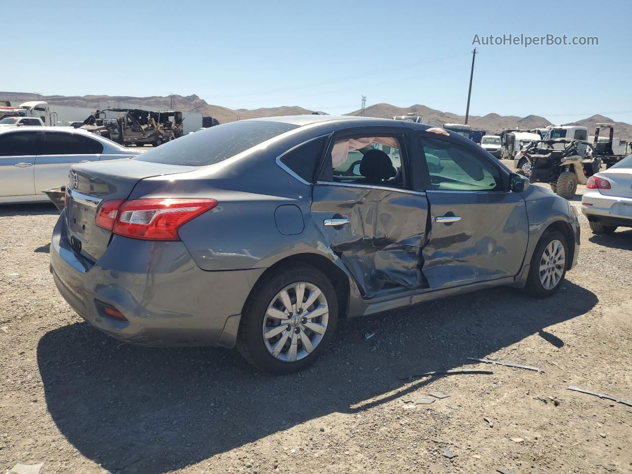
[{"label": "front door window of the damaged gray Nissan sedan", "polygon": [[461,145],[438,138],[422,138],[428,165],[428,190],[500,191],[501,171]]}]

